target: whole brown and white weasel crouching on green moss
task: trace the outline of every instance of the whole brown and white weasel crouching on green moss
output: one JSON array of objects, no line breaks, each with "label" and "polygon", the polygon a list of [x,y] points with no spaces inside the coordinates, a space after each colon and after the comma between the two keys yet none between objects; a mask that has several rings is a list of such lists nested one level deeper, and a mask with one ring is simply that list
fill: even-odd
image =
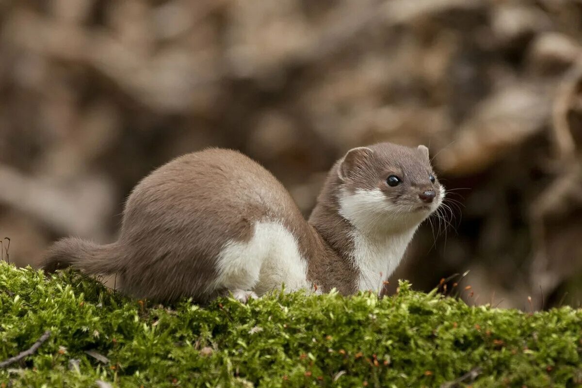
[{"label": "whole brown and white weasel crouching on green moss", "polygon": [[154,170],[126,201],[118,241],[56,241],[44,269],[117,273],[128,296],[242,301],[270,290],[378,290],[445,190],[428,148],[350,149],[306,221],[283,185],[240,152],[211,148]]}]

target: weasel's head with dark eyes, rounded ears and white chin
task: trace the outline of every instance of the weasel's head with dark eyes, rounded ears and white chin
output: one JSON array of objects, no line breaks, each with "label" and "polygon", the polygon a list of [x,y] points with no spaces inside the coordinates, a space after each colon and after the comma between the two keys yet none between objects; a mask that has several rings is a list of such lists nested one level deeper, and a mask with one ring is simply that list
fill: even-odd
[{"label": "weasel's head with dark eyes, rounded ears and white chin", "polygon": [[445,196],[424,145],[353,148],[335,170],[339,212],[358,229],[416,227]]}]

